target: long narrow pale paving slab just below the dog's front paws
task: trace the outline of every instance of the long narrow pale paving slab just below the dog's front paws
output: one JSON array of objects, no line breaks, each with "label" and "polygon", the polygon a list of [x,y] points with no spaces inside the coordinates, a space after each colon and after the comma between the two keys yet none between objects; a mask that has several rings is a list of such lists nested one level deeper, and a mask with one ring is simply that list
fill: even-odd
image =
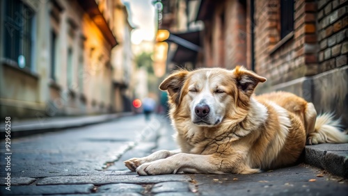
[{"label": "long narrow pale paving slab just below the dog's front paws", "polygon": [[135,172],[133,175],[93,175],[93,176],[78,176],[78,177],[47,177],[40,179],[38,185],[49,184],[81,184],[93,183],[102,185],[108,183],[160,183],[164,181],[190,181],[191,178],[184,174],[170,174],[158,176],[138,176]]}]

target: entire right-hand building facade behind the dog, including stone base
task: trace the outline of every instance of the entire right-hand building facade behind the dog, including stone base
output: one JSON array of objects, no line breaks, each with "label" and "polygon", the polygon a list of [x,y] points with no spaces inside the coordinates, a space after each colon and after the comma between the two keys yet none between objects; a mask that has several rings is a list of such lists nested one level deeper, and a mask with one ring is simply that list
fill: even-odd
[{"label": "entire right-hand building facade behind the dog, including stone base", "polygon": [[201,0],[195,67],[244,65],[268,79],[256,93],[294,92],[348,126],[347,8],[344,0]]}]

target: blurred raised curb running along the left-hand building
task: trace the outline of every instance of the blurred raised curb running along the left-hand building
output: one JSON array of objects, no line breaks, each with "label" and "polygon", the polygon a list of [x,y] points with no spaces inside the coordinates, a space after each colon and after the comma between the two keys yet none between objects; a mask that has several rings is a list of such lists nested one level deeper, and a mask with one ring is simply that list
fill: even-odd
[{"label": "blurred raised curb running along the left-hand building", "polygon": [[[106,115],[97,115],[97,116],[85,116],[85,117],[69,117],[65,120],[56,120],[54,117],[47,118],[47,122],[40,122],[39,120],[33,124],[21,124],[14,125],[11,124],[11,137],[13,138],[22,138],[26,136],[31,136],[40,133],[55,132],[61,131],[63,129],[77,128],[81,126],[88,126],[91,124],[98,124],[102,122],[108,122],[110,120],[117,119],[118,117],[124,117],[134,115],[134,113],[118,113],[118,114],[106,114]],[[49,122],[51,120],[51,122]],[[54,121],[52,121],[54,120]],[[35,122],[33,120],[33,122]],[[0,139],[5,138],[5,127],[4,124],[1,124],[0,128]]]}]

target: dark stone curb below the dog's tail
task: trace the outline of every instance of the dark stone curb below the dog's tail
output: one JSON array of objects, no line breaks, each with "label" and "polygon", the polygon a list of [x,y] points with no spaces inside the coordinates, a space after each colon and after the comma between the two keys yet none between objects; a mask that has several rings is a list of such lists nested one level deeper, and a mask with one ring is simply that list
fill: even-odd
[{"label": "dark stone curb below the dog's tail", "polygon": [[348,178],[348,144],[306,146],[305,163]]}]

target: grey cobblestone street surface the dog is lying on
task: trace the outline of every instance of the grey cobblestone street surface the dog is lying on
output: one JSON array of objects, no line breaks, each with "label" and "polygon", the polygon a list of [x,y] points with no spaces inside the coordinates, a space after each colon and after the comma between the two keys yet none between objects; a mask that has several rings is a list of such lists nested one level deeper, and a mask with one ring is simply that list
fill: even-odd
[{"label": "grey cobblestone street surface the dog is lying on", "polygon": [[[176,149],[165,117],[111,122],[14,139],[10,190],[1,161],[0,195],[345,195],[347,179],[300,164],[260,174],[139,177],[123,161]],[[3,146],[5,142],[2,140]],[[5,151],[1,147],[1,160]]]}]

